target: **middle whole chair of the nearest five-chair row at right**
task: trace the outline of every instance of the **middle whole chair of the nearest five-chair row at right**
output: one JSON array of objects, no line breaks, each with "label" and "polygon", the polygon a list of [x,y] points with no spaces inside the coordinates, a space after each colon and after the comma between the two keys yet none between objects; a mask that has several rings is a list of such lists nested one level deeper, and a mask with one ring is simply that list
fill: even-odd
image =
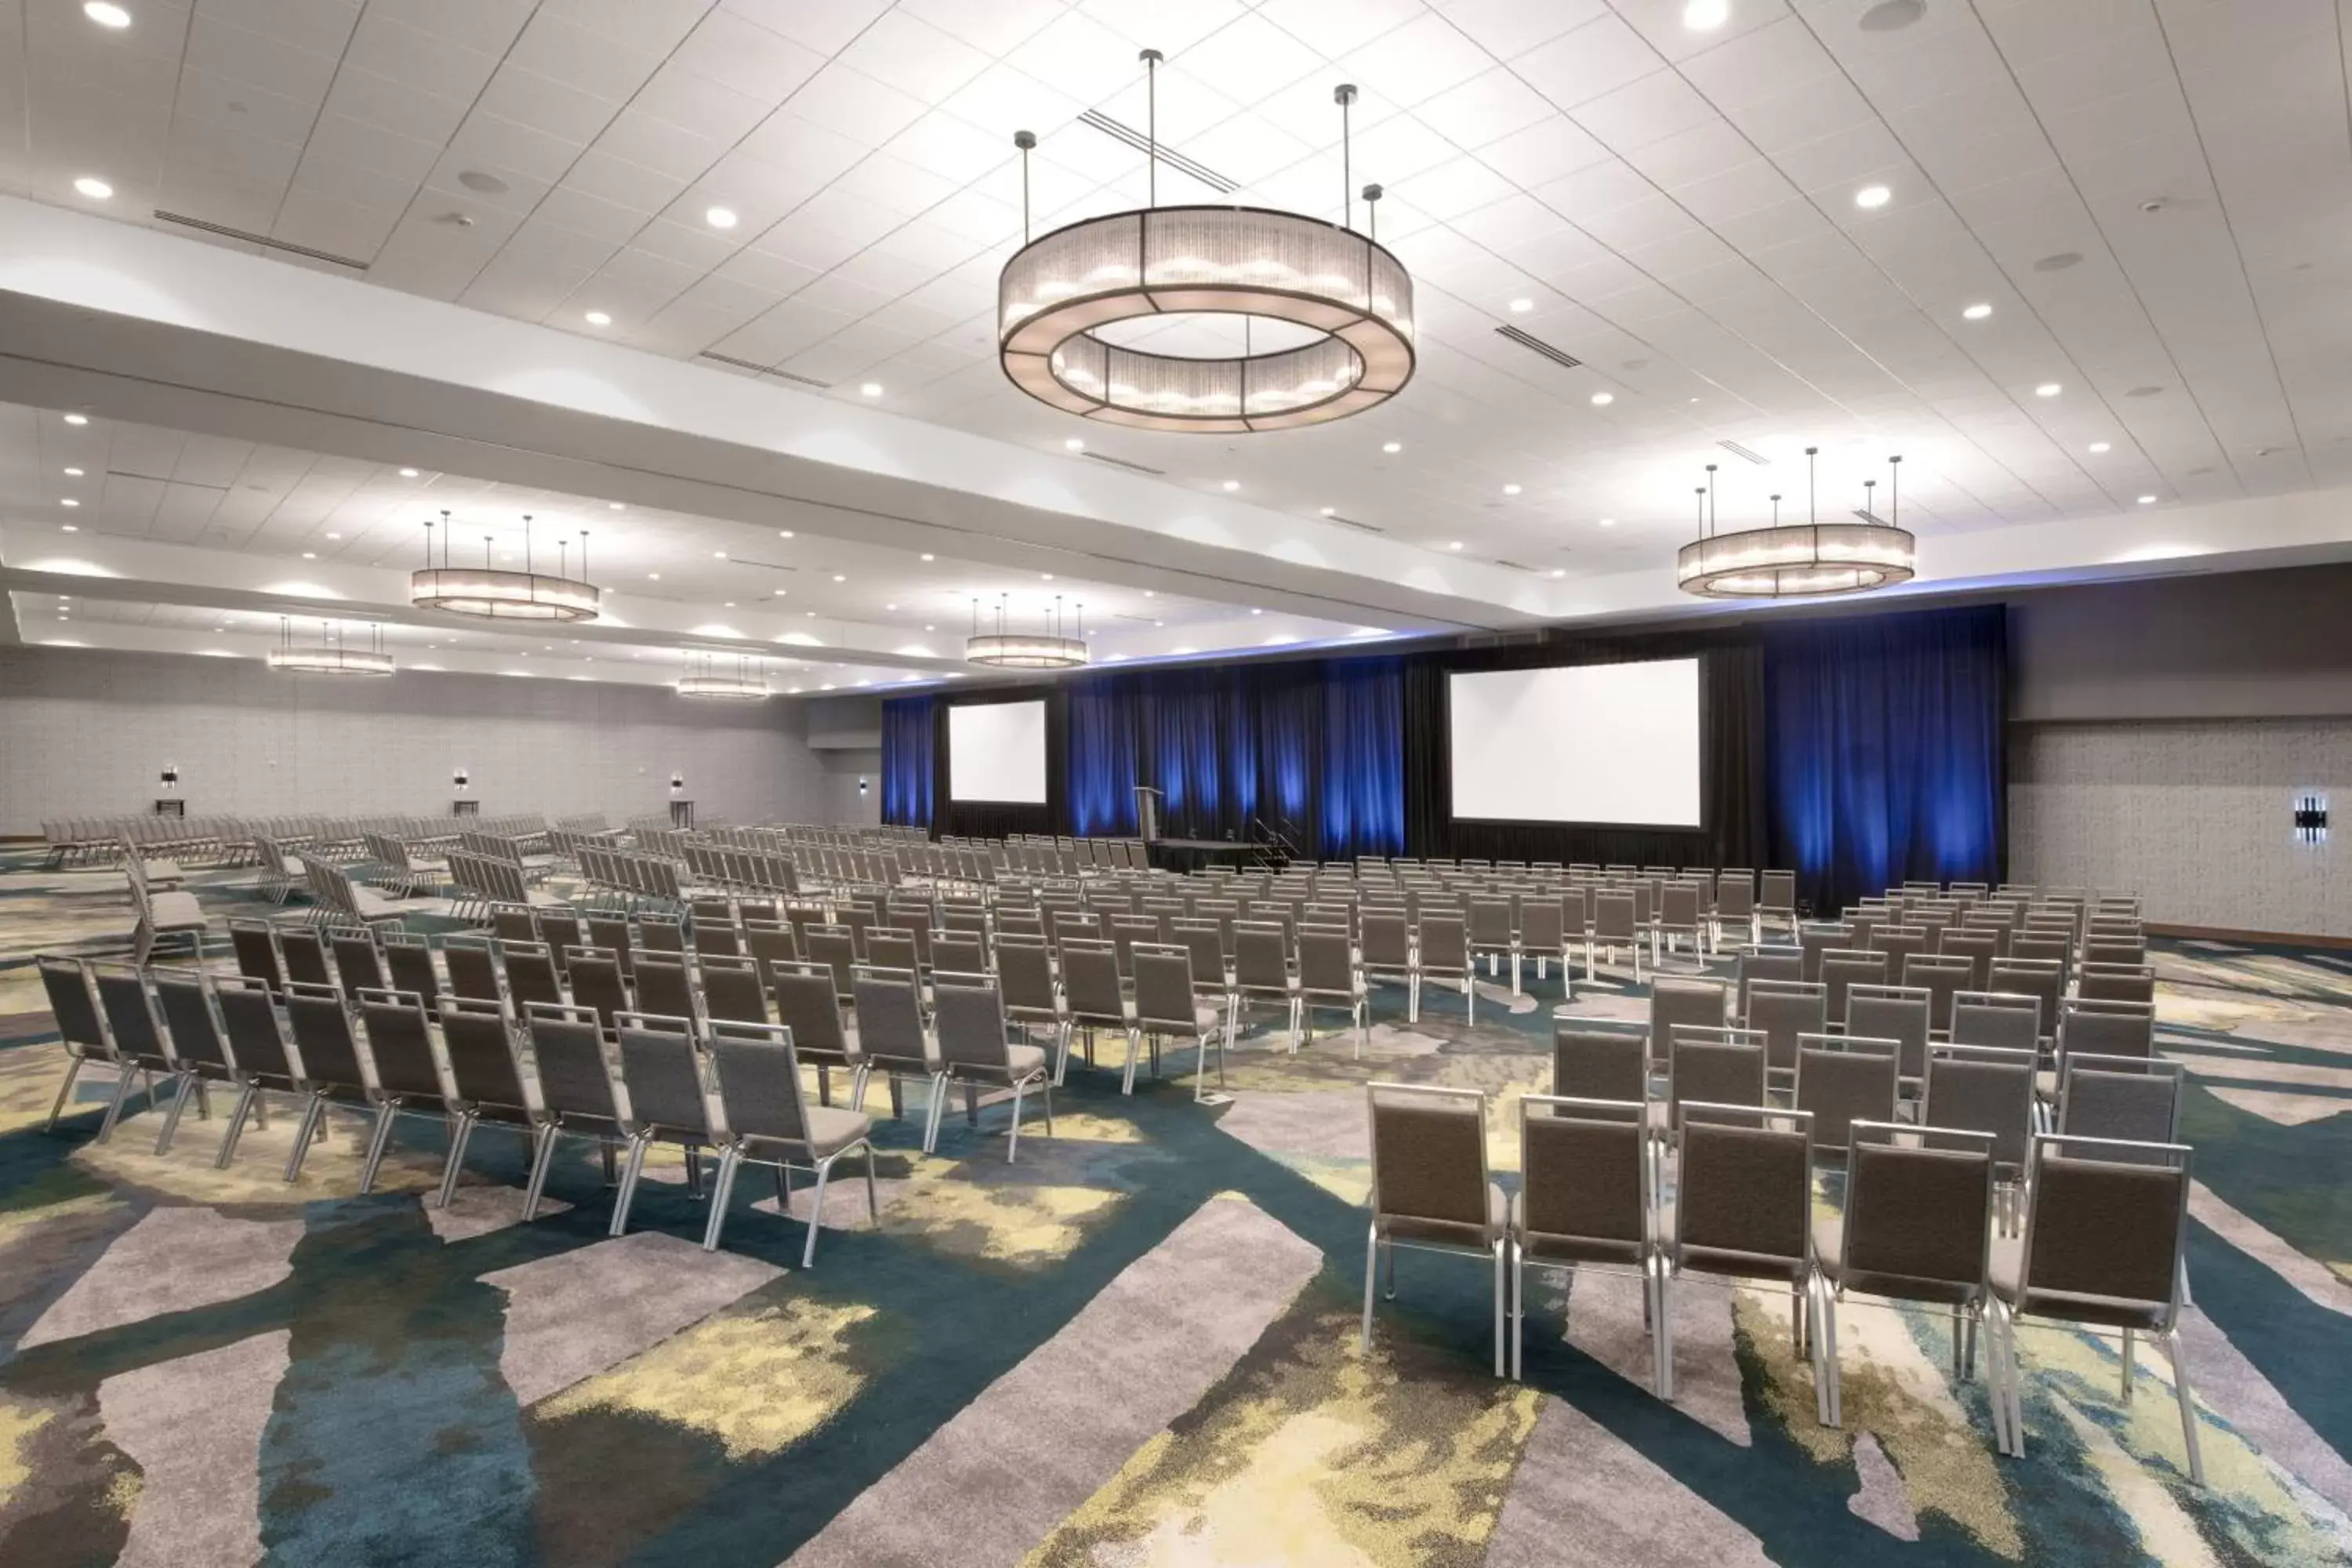
[{"label": "middle whole chair of the nearest five-chair row at right", "polygon": [[[1684,1105],[1675,1126],[1675,1201],[1658,1215],[1658,1248],[1661,1399],[1675,1396],[1672,1286],[1686,1272],[1729,1284],[1785,1284],[1792,1342],[1802,1354],[1804,1293],[1813,1276],[1813,1119],[1762,1105]],[[1813,1375],[1818,1382],[1818,1361]]]}]

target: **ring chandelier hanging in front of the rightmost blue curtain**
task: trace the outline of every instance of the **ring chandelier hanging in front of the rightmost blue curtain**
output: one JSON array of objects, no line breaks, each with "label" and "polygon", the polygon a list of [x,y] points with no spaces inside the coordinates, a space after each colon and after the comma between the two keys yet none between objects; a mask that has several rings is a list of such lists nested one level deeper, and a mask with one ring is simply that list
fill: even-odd
[{"label": "ring chandelier hanging in front of the rightmost blue curtain", "polygon": [[[1703,599],[1799,599],[1867,592],[1907,583],[1919,571],[1919,545],[1896,527],[1903,501],[1889,480],[1889,515],[1872,505],[1877,480],[1863,482],[1863,508],[1853,522],[1818,522],[1813,512],[1813,458],[1804,449],[1806,522],[1780,522],[1780,496],[1771,498],[1771,527],[1719,534],[1715,529],[1715,463],[1698,489],[1698,538],[1675,557],[1675,581]],[[1886,458],[1900,473],[1903,458]]]}]

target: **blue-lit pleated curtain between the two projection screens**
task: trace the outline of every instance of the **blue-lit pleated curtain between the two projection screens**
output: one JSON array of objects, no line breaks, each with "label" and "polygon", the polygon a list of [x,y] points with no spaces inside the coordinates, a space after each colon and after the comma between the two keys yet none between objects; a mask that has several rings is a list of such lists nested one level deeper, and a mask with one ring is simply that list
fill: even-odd
[{"label": "blue-lit pleated curtain between the two projection screens", "polygon": [[1341,860],[1404,853],[1399,661],[1136,670],[1070,682],[1070,830],[1265,839]]}]

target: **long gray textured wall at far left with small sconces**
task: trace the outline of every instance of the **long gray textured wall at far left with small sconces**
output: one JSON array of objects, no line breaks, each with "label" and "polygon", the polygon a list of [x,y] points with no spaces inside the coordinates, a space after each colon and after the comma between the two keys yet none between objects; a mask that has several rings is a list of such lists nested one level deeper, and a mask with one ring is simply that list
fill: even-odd
[{"label": "long gray textured wall at far left with small sconces", "polygon": [[247,658],[0,646],[0,832],[146,811],[165,762],[195,813],[440,813],[463,764],[482,811],[880,820],[870,752],[816,752],[804,708],[689,703],[659,686],[409,670],[273,675]]}]

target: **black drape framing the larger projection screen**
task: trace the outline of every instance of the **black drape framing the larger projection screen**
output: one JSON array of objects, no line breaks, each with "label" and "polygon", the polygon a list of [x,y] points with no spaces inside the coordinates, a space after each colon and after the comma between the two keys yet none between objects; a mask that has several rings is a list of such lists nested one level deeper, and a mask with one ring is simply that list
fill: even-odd
[{"label": "black drape framing the larger projection screen", "polygon": [[[1635,663],[1698,656],[1705,827],[1456,823],[1446,677],[1454,670]],[[1764,656],[1752,632],[1571,637],[1519,649],[1425,654],[1404,672],[1404,842],[1411,856],[1595,865],[1766,865]]]}]

